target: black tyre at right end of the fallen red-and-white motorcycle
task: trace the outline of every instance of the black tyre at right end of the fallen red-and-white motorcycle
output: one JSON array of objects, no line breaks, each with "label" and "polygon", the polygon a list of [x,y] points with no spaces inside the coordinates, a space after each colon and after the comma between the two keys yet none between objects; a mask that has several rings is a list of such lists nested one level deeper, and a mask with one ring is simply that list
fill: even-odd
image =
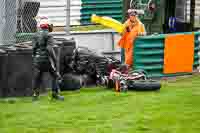
[{"label": "black tyre at right end of the fallen red-and-white motorcycle", "polygon": [[158,81],[138,80],[128,83],[129,90],[135,91],[156,91],[160,90],[161,83]]}]

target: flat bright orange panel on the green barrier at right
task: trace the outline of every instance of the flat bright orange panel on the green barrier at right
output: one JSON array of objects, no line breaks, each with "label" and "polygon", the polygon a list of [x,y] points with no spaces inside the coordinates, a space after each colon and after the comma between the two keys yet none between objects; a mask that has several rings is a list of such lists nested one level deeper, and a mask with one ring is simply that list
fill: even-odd
[{"label": "flat bright orange panel on the green barrier at right", "polygon": [[194,34],[168,35],[165,38],[164,74],[192,72],[194,63]]}]

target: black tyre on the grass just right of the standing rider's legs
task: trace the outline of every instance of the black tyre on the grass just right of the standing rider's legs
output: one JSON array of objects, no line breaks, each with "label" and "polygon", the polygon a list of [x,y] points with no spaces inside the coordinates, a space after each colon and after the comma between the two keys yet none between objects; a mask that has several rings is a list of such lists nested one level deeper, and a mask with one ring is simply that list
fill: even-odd
[{"label": "black tyre on the grass just right of the standing rider's legs", "polygon": [[65,74],[63,76],[63,81],[60,84],[61,91],[75,91],[80,90],[80,76],[73,74]]}]

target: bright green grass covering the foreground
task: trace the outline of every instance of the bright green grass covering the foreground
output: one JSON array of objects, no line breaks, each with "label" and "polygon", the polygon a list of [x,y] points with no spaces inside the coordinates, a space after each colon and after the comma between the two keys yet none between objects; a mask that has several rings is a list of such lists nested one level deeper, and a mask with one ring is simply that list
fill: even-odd
[{"label": "bright green grass covering the foreground", "polygon": [[0,133],[199,133],[200,76],[163,82],[160,92],[104,88],[0,100]]}]

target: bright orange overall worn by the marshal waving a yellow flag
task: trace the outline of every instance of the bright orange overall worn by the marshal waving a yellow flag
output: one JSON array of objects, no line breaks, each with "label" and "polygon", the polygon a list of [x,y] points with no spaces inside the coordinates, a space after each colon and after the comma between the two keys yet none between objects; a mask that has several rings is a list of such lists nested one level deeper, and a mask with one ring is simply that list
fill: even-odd
[{"label": "bright orange overall worn by the marshal waving a yellow flag", "polygon": [[[129,27],[129,32],[126,31],[126,27]],[[125,49],[125,64],[128,66],[133,65],[134,40],[140,34],[145,35],[146,30],[144,24],[138,18],[134,24],[129,19],[124,23],[124,32],[118,45]]]}]

